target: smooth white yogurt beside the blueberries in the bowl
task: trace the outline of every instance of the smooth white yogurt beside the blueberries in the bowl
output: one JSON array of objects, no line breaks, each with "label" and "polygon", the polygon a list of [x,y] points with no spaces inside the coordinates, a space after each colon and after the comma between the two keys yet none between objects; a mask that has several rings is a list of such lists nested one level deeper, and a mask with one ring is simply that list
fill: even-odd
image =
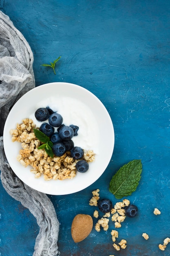
[{"label": "smooth white yogurt beside the blueberries in the bowl", "polygon": [[[74,145],[84,150],[93,150],[95,154],[99,151],[99,126],[91,109],[81,101],[70,97],[50,97],[40,101],[35,106],[38,108],[46,108],[49,106],[53,111],[58,112],[63,117],[63,124],[69,126],[71,124],[79,127],[78,135],[72,138]],[[48,120],[40,122],[35,118],[35,113],[31,114],[30,119],[33,120],[37,127],[42,123],[49,123]],[[57,128],[55,128],[55,132]]]}]

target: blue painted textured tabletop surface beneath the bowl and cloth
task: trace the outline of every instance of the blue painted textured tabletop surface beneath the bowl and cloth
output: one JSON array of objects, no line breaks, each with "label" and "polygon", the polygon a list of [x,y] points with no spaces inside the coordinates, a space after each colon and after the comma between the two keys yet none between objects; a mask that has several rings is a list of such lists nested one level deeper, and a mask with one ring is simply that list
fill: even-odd
[{"label": "blue painted textured tabletop surface beneath the bowl and cloth", "polygon": [[[158,245],[170,236],[170,2],[0,0],[0,10],[31,46],[36,85],[64,81],[83,86],[104,103],[115,128],[113,157],[99,180],[73,195],[49,195],[60,221],[61,255],[169,256],[170,245],[164,252]],[[56,75],[40,66],[60,55]],[[126,218],[118,230],[127,248],[113,248],[111,220],[107,232],[93,229],[75,244],[71,222],[78,213],[93,214],[91,191],[99,188],[101,198],[117,202],[108,184],[133,159],[141,159],[143,172],[128,197],[139,214]],[[31,256],[39,231],[36,220],[1,183],[0,191],[0,255]],[[153,214],[155,207],[160,216]],[[141,237],[143,232],[149,240]]]}]

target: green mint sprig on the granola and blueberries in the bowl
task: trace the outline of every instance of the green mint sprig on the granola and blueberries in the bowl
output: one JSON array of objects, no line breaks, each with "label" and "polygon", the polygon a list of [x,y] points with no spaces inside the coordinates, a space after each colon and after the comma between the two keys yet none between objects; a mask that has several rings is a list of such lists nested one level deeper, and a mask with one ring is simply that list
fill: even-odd
[{"label": "green mint sprig on the granola and blueberries in the bowl", "polygon": [[33,129],[35,136],[37,137],[37,139],[39,139],[39,141],[41,141],[42,144],[41,146],[38,147],[38,149],[45,149],[46,153],[53,158],[54,154],[53,154],[53,143],[50,141],[49,137],[46,136],[43,132],[41,132],[40,130],[37,129]]}]

